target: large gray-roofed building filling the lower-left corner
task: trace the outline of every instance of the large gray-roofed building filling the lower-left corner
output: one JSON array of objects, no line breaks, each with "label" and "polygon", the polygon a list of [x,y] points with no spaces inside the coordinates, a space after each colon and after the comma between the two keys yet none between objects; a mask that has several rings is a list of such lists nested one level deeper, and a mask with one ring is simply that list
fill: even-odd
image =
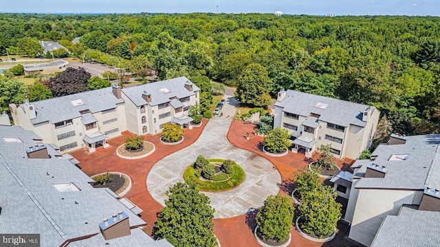
[{"label": "large gray-roofed building filling the lower-left corner", "polygon": [[32,131],[0,126],[1,234],[36,233],[42,247],[173,246],[144,233],[139,211],[108,188],[92,187],[52,146]]}]

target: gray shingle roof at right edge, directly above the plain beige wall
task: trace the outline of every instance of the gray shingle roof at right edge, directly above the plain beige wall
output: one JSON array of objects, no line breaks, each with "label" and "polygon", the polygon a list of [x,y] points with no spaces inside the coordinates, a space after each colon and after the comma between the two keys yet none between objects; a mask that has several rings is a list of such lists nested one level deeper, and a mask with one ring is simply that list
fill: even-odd
[{"label": "gray shingle roof at right edge, directly above the plain beige wall", "polygon": [[[385,178],[361,178],[356,188],[418,189],[440,188],[440,134],[408,136],[406,144],[380,144],[371,154],[373,161],[388,169]],[[406,160],[389,160],[393,154],[408,154]],[[355,177],[363,177],[368,161]],[[358,165],[358,163],[355,163]],[[429,176],[428,176],[429,175]]]}]

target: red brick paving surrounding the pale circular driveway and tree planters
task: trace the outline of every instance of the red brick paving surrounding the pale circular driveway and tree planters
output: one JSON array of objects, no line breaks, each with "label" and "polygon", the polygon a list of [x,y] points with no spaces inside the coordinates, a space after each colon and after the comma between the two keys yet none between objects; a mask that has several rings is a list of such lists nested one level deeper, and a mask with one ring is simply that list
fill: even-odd
[{"label": "red brick paving surrounding the pale circular driveway and tree planters", "polygon": [[[118,158],[115,150],[124,144],[124,139],[127,136],[133,136],[129,132],[124,132],[123,136],[108,140],[111,147],[107,149],[100,149],[95,153],[85,153],[83,149],[72,152],[71,154],[80,161],[78,165],[87,175],[95,175],[106,171],[118,171],[125,173],[132,178],[133,185],[129,193],[124,197],[129,198],[133,203],[142,208],[144,212],[141,217],[147,222],[147,226],[144,227],[146,233],[151,235],[153,226],[157,219],[157,213],[162,209],[162,206],[155,202],[151,195],[149,195],[146,188],[146,175],[150,171],[153,165],[164,158],[170,153],[174,153],[184,147],[188,147],[199,138],[201,131],[203,131],[208,121],[203,119],[203,125],[192,130],[185,129],[184,142],[173,146],[161,144],[159,142],[160,136],[145,136],[144,140],[153,142],[156,147],[156,151],[146,158],[138,160],[124,160]],[[287,155],[279,158],[274,158],[265,155],[260,149],[259,144],[263,141],[263,137],[254,136],[254,125],[244,124],[242,121],[233,121],[228,132],[228,140],[236,147],[258,153],[263,157],[270,160],[278,169],[283,180],[280,193],[292,192],[292,179],[294,178],[294,172],[307,166],[308,162],[305,161],[305,156],[300,153],[289,152]],[[250,140],[246,140],[245,133],[250,132]],[[316,155],[314,155],[316,160]],[[349,167],[353,160],[338,160],[338,167]],[[214,219],[214,233],[219,238],[219,241],[223,247],[225,246],[259,246],[254,239],[252,229],[254,228],[252,214],[241,215],[239,217],[232,217],[229,219]],[[347,240],[344,240],[344,236],[338,234],[336,239],[330,243],[316,243],[309,241],[304,237],[301,237],[292,226],[292,243],[289,246],[355,246]]]}]

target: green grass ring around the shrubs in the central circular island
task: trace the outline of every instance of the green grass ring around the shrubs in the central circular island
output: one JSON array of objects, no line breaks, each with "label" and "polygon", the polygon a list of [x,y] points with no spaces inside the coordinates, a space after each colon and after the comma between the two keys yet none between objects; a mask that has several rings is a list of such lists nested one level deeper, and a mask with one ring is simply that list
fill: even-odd
[{"label": "green grass ring around the shrubs in the central circular island", "polygon": [[193,181],[196,184],[196,189],[200,191],[227,191],[239,186],[245,179],[245,172],[234,162],[232,165],[232,173],[224,173],[221,169],[221,164],[225,162],[222,159],[208,159],[210,164],[214,164],[215,175],[212,180],[206,180],[201,177],[200,172],[194,168],[194,164],[190,164],[184,171],[184,180],[186,182]]}]

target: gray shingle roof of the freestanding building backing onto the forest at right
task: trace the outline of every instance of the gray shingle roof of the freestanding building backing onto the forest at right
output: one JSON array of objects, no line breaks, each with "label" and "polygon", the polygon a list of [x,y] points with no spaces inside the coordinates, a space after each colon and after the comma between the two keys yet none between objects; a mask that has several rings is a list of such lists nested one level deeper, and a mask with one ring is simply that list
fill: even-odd
[{"label": "gray shingle roof of the freestanding building backing onto the forest at right", "polygon": [[[328,105],[325,109],[320,109],[316,107],[318,103]],[[306,94],[294,90],[287,90],[285,98],[281,101],[277,101],[275,106],[283,107],[284,111],[300,116],[307,117],[310,113],[319,114],[319,120],[331,122],[343,127],[349,127],[349,125],[364,127],[366,122],[362,122],[362,114],[366,108],[369,107],[368,105],[361,105],[314,94]],[[377,111],[375,107],[371,107],[371,110]]]}]

